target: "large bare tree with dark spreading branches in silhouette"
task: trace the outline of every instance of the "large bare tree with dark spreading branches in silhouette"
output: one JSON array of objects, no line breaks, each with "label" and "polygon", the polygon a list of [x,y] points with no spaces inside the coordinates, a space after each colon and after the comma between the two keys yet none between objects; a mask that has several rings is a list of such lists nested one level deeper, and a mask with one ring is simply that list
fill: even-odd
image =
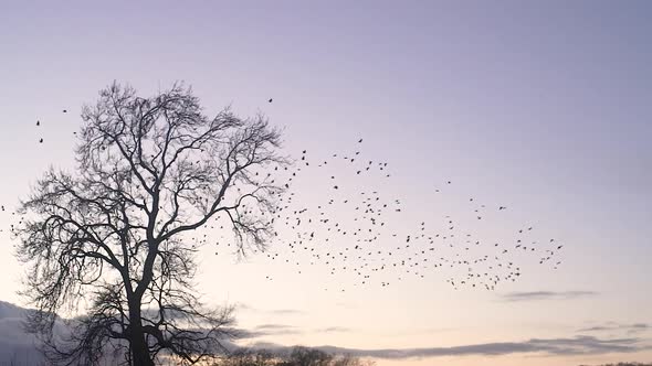
[{"label": "large bare tree with dark spreading branches in silhouette", "polygon": [[[143,98],[114,83],[82,119],[76,170],[51,169],[21,203],[23,293],[39,310],[28,329],[64,365],[218,355],[232,309],[208,309],[193,292],[201,243],[188,235],[225,219],[240,255],[264,250],[284,189],[265,172],[287,164],[278,130],[229,109],[209,118],[179,84]],[[66,309],[84,315],[57,335]]]}]

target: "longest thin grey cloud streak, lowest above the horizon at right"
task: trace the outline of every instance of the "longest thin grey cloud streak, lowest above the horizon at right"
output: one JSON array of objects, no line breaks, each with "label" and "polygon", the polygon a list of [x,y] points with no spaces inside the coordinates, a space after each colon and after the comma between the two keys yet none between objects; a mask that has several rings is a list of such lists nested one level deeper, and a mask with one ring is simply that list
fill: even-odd
[{"label": "longest thin grey cloud streak, lowest above the horizon at right", "polygon": [[[532,338],[524,342],[501,342],[463,345],[455,347],[358,349],[335,346],[316,347],[327,353],[350,354],[358,357],[388,359],[422,358],[438,356],[499,356],[514,353],[537,353],[547,355],[599,355],[607,353],[632,353],[651,349],[641,344],[641,338],[600,340],[593,336],[574,338]],[[256,348],[274,352],[290,352],[292,347],[272,343],[256,343]]]}]

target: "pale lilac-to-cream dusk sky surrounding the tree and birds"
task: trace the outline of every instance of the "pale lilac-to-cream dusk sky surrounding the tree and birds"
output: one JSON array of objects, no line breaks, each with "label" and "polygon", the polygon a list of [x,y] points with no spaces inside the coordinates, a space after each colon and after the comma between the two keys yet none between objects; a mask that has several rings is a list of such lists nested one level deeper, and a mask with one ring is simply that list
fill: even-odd
[{"label": "pale lilac-to-cream dusk sky surrounding the tree and birds", "polygon": [[407,207],[397,225],[473,196],[509,208],[483,235],[532,225],[565,244],[558,269],[526,261],[496,291],[437,273],[325,291],[349,279],[207,248],[197,290],[238,305],[243,344],[379,366],[650,362],[651,17],[646,1],[2,2],[0,300],[23,304],[10,211],[49,166],[73,166],[81,107],[113,80],[144,95],[185,80],[207,112],[263,112],[291,153],[364,138],[391,171],[369,184]]}]

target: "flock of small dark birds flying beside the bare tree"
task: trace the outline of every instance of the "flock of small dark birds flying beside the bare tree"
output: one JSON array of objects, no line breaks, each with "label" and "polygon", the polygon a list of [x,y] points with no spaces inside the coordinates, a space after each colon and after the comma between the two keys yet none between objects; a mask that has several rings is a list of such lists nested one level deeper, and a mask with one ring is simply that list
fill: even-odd
[{"label": "flock of small dark birds flying beside the bare tree", "polygon": [[[43,143],[43,138],[39,142]],[[409,277],[422,279],[432,273],[454,289],[495,290],[522,276],[525,256],[534,257],[539,265],[550,263],[554,269],[561,263],[557,257],[564,245],[554,238],[537,240],[533,226],[516,228],[513,238],[496,241],[476,234],[473,227],[464,227],[464,220],[452,215],[407,224],[406,217],[410,219],[411,215],[406,213],[402,200],[356,183],[366,177],[374,186],[392,176],[387,162],[362,159],[362,142],[358,139],[357,149],[350,153],[332,153],[315,161],[303,150],[294,164],[276,166],[267,174],[286,191],[277,196],[273,209],[275,237],[264,251],[266,259],[296,266],[299,274],[307,266],[320,267],[336,277],[338,291],[346,291],[347,284],[385,288]],[[308,182],[304,192],[296,190],[302,179]],[[444,194],[452,185],[444,180],[432,187],[432,193]],[[303,198],[306,193],[308,196]],[[476,222],[507,211],[505,205],[481,204],[473,197],[469,197],[467,206],[469,216]],[[4,206],[1,209],[4,212]],[[214,223],[206,229],[223,230],[224,226]],[[214,243],[212,237],[196,235],[193,246]],[[218,247],[231,247],[230,240],[221,238],[215,243]],[[266,274],[265,279],[272,281],[274,276]]]}]

